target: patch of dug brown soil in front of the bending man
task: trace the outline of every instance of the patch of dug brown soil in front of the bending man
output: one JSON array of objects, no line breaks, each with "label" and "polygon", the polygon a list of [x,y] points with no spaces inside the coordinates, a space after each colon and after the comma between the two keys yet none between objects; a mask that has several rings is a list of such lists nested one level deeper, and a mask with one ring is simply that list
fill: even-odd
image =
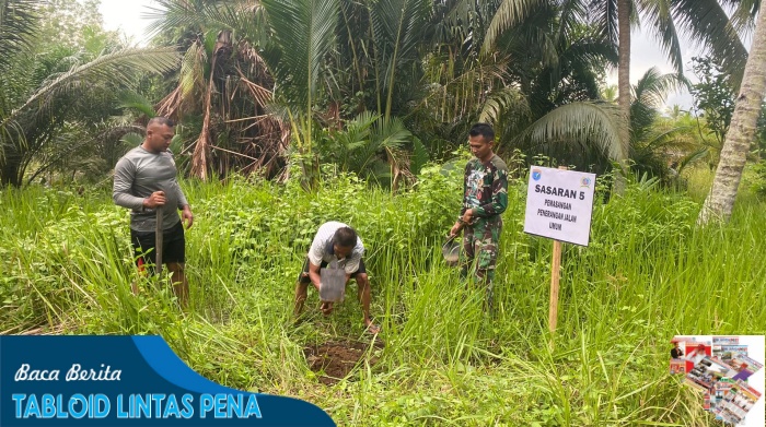
[{"label": "patch of dug brown soil in front of the bending man", "polygon": [[[345,378],[351,369],[367,355],[369,343],[355,341],[339,342],[328,341],[303,349],[309,367],[314,372],[322,373],[320,382],[332,386]],[[382,348],[383,344],[375,342],[375,348]],[[369,354],[370,365],[378,363],[378,357]]]}]

